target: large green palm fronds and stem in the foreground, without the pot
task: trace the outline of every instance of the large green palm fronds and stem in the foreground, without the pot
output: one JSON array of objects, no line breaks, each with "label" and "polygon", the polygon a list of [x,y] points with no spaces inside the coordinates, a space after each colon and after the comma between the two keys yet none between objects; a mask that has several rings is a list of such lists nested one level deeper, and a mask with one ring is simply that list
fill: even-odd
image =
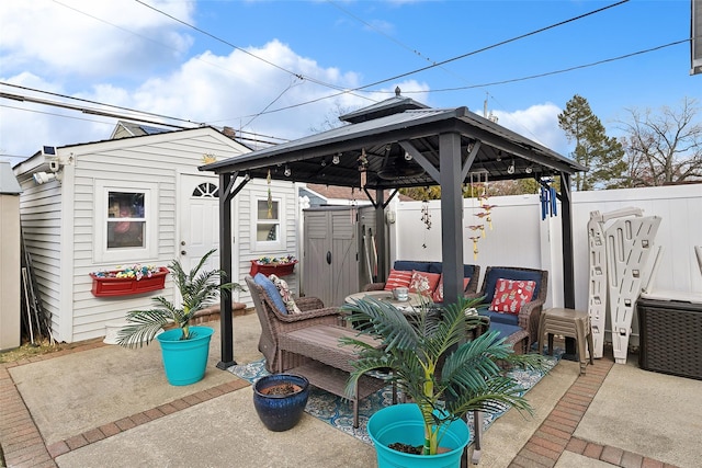
[{"label": "large green palm fronds and stem in the foreground, without the pot", "polygon": [[342,344],[360,347],[347,395],[353,395],[363,374],[389,370],[389,381],[419,406],[424,422],[424,455],[437,454],[449,424],[468,411],[497,413],[511,406],[532,413],[522,397],[524,389],[503,368],[543,369],[543,358],[539,354],[514,354],[498,332],[471,340],[469,332],[483,319],[465,311],[482,299],[461,298],[446,307],[427,303],[416,313],[405,313],[371,297],[343,306],[360,333],[383,343],[382,349],[375,349],[355,339],[342,340]]}]

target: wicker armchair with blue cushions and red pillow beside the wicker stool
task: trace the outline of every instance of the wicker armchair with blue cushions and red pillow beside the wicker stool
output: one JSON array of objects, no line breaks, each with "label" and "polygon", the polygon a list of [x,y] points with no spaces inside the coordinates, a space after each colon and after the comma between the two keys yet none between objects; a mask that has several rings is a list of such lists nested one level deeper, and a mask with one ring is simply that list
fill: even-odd
[{"label": "wicker armchair with blue cushions and red pillow beside the wicker stool", "polygon": [[[499,278],[514,281],[534,281],[535,288],[532,300],[522,305],[519,315],[501,313],[489,310],[496,284]],[[548,293],[548,272],[545,270],[523,269],[518,266],[488,266],[480,290],[472,297],[485,296],[479,313],[490,318],[490,330],[498,330],[508,342],[514,345],[516,352],[526,352],[532,343],[539,341],[539,319]],[[522,336],[520,339],[520,336]],[[522,342],[522,345],[518,345]]]}]

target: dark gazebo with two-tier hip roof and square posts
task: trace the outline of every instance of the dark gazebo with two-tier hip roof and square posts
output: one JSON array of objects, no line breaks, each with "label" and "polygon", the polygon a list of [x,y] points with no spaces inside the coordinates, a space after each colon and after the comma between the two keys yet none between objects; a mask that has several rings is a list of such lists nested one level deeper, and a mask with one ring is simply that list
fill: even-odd
[{"label": "dark gazebo with two-tier hip roof and square posts", "polygon": [[[575,307],[571,175],[587,168],[511,132],[467,107],[432,109],[395,96],[339,117],[346,125],[270,148],[210,163],[201,171],[219,175],[222,270],[231,277],[231,201],[253,179],[321,183],[363,190],[375,207],[377,226],[397,189],[441,186],[441,242],[444,297],[458,297],[463,285],[463,184],[469,174],[490,181],[561,178],[564,306]],[[238,181],[237,181],[238,179]],[[384,191],[395,190],[388,199]],[[372,196],[372,193],[374,196]],[[377,243],[385,246],[384,229]],[[386,275],[383,252],[378,275]],[[222,299],[222,361],[234,364],[231,298]]]}]

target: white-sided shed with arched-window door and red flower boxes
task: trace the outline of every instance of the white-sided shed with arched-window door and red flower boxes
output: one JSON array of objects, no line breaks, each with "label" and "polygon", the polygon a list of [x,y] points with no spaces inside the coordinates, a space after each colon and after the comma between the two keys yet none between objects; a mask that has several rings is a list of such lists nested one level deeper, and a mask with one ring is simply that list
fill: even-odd
[{"label": "white-sided shed with arched-window door and red flower boxes", "polygon": [[[218,180],[197,167],[249,151],[214,127],[163,132],[120,123],[112,139],[44,147],[16,164],[22,230],[54,336],[100,338],[106,323],[151,307],[156,295],[178,300],[170,275],[162,289],[95,296],[90,274],[168,266],[173,259],[189,270],[218,249]],[[280,216],[260,219],[269,187]],[[258,180],[241,193],[227,228],[226,243],[236,246],[233,281],[248,273],[251,259],[296,253],[295,190],[290,182]],[[208,266],[218,267],[219,259],[211,260]],[[248,301],[248,294],[234,300]]]}]

